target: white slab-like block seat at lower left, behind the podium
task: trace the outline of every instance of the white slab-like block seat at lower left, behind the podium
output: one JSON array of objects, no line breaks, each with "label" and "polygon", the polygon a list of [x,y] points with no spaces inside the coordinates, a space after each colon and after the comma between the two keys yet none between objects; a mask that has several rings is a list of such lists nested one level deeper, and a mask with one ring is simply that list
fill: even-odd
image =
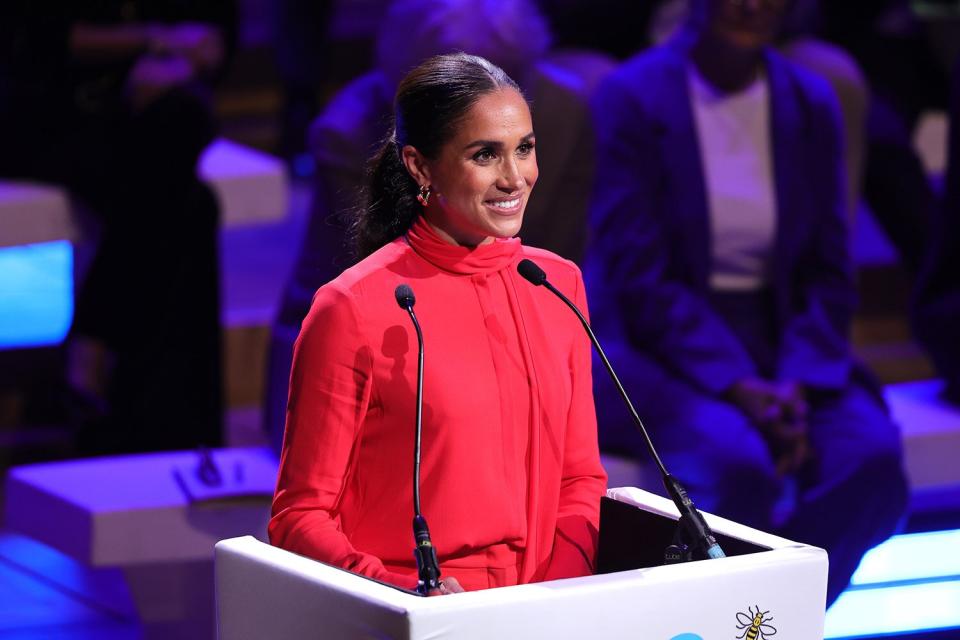
[{"label": "white slab-like block seat at lower left, behind the podium", "polygon": [[192,451],[14,467],[6,526],[95,567],[209,560],[231,532],[266,539],[276,459],[266,449],[212,453],[228,499],[188,500],[175,471],[192,473]]}]

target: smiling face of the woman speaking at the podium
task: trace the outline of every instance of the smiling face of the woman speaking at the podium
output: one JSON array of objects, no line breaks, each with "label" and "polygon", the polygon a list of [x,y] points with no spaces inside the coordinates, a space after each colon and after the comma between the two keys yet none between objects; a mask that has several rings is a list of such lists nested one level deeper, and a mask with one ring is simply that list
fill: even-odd
[{"label": "smiling face of the woman speaking at the podium", "polygon": [[537,181],[533,123],[516,90],[484,94],[436,158],[403,148],[407,170],[432,189],[427,221],[454,244],[476,246],[520,231]]}]

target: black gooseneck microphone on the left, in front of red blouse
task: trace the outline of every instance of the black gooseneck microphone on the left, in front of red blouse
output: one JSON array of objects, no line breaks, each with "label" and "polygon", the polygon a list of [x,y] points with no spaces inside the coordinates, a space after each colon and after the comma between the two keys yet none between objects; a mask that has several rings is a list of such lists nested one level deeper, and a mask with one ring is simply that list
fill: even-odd
[{"label": "black gooseneck microphone on the left, in front of red blouse", "polygon": [[427,595],[440,588],[440,563],[437,550],[430,540],[430,528],[420,512],[420,434],[423,431],[423,331],[413,305],[417,299],[408,284],[397,286],[393,292],[397,304],[410,314],[414,329],[417,330],[417,417],[413,441],[413,555],[417,559],[417,593]]}]

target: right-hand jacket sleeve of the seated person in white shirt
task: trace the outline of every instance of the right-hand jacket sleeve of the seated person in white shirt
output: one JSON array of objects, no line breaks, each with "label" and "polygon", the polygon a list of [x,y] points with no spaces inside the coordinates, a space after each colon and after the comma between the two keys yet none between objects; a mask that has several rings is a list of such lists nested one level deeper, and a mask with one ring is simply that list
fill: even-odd
[{"label": "right-hand jacket sleeve of the seated person in white shirt", "polygon": [[840,387],[850,370],[849,328],[856,301],[844,185],[839,108],[829,90],[812,101],[817,161],[806,169],[824,194],[817,222],[793,272],[802,301],[783,327],[778,375],[817,387]]}]

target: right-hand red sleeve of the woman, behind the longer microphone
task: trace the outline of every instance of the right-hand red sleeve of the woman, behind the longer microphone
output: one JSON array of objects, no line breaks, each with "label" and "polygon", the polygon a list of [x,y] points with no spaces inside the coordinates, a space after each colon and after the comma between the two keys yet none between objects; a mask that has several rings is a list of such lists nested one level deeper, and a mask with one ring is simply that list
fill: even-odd
[{"label": "right-hand red sleeve of the woman, behind the longer microphone", "polygon": [[[576,285],[574,302],[588,316],[587,298],[579,276]],[[597,447],[591,347],[586,335],[580,337],[570,361],[573,396],[564,443],[557,530],[545,580],[590,575],[596,568],[600,497],[607,488],[607,475],[600,464]]]}]

